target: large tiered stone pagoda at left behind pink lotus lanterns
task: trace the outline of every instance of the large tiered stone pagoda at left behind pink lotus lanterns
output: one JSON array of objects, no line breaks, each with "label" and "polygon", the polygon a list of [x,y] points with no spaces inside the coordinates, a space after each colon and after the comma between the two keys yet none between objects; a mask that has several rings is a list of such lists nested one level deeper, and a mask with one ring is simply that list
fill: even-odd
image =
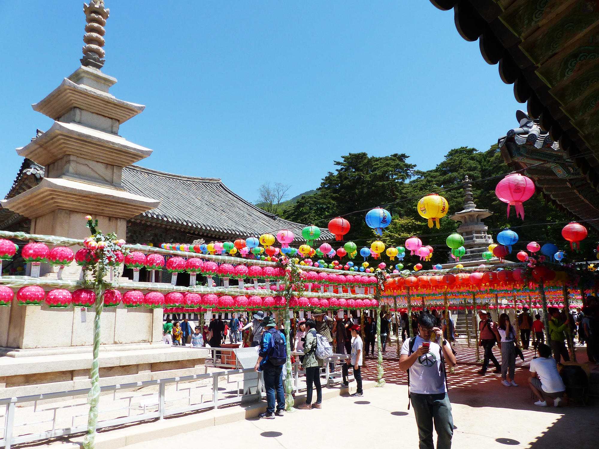
[{"label": "large tiered stone pagoda at left behind pink lotus lanterns", "polygon": [[[84,4],[84,13],[80,68],[33,105],[55,122],[17,148],[20,156],[44,166],[44,177],[32,189],[2,200],[2,207],[31,219],[32,234],[83,239],[89,236],[84,217],[91,215],[104,233],[126,238],[127,220],[160,204],[126,191],[122,183],[124,167],[152,154],[119,135],[120,125],[144,106],[111,95],[109,89],[117,80],[101,71],[110,11],[102,0],[92,0]],[[63,278],[77,279],[80,270],[72,263]],[[56,278],[47,264],[41,275]],[[38,383],[58,383],[57,391],[89,386],[93,317],[91,308],[55,310],[16,301],[0,308],[0,356],[7,356],[0,357],[0,394],[32,394]],[[162,342],[162,309],[119,305],[105,308],[101,319],[102,354],[113,354],[101,359],[106,370],[103,384],[120,383],[115,377],[122,375],[128,381],[169,377],[173,371],[168,370],[177,368],[192,368],[180,375],[204,372],[199,353],[181,354]],[[195,369],[200,365],[199,371]],[[26,376],[31,381],[24,380]]]}]

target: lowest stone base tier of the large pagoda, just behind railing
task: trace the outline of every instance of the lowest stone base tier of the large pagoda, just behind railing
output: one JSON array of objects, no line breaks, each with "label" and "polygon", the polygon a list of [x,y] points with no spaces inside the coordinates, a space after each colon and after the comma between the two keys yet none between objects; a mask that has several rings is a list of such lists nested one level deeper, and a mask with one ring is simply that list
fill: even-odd
[{"label": "lowest stone base tier of the large pagoda, just behind railing", "polygon": [[[205,349],[158,343],[130,350],[119,350],[116,346],[126,345],[102,345],[101,386],[206,372],[204,363],[209,351]],[[15,351],[17,356],[0,357],[0,398],[90,388],[91,348],[56,348],[57,351],[75,349],[86,351],[28,356],[19,356],[22,351]]]}]

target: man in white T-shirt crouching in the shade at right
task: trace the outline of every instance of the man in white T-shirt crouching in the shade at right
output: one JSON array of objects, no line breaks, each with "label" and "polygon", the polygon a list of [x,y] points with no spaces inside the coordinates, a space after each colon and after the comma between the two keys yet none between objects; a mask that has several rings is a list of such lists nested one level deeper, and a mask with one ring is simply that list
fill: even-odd
[{"label": "man in white T-shirt crouching in the shade at right", "polygon": [[539,358],[530,361],[530,377],[528,384],[539,401],[534,405],[547,406],[544,396],[553,399],[553,406],[559,407],[568,404],[565,395],[565,385],[558,372],[558,365],[551,357],[551,348],[546,344],[539,344]]}]

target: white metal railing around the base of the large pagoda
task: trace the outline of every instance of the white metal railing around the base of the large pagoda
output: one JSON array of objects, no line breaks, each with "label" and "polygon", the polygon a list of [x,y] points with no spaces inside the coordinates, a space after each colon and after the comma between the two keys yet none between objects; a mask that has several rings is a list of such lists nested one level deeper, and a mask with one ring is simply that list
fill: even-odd
[{"label": "white metal railing around the base of the large pagoda", "polygon": [[[216,362],[217,352],[235,353],[235,348],[210,348],[213,356],[206,359],[207,366]],[[293,353],[295,356],[301,353]],[[341,378],[341,362],[346,354],[332,354],[325,360],[323,387]],[[240,366],[235,354],[235,367]],[[231,366],[217,363],[215,366]],[[332,369],[331,369],[332,368]],[[305,389],[301,378],[299,359],[292,363],[293,390]],[[220,386],[219,378],[225,377]],[[63,435],[87,431],[89,405],[87,394],[90,389],[44,393],[0,399],[0,447],[56,438]],[[258,401],[264,392],[262,376],[253,368],[228,369],[227,371],[195,374],[169,379],[150,380],[104,386],[100,388],[98,429],[160,419],[165,416],[202,409],[216,409],[222,405]],[[110,394],[112,393],[112,394]],[[56,399],[58,401],[50,401]],[[62,401],[61,401],[62,399]],[[50,404],[47,404],[50,402]],[[21,404],[21,406],[18,406]],[[32,404],[32,405],[29,405]],[[2,412],[2,405],[4,411]],[[4,422],[2,422],[4,421]],[[3,425],[1,425],[3,424]]]}]

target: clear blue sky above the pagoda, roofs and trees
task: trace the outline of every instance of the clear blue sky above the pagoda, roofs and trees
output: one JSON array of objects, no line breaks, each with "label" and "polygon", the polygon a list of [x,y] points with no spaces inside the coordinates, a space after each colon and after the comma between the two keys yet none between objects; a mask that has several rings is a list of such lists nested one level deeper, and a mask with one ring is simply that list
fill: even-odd
[{"label": "clear blue sky above the pagoda, roofs and trees", "polygon": [[[82,4],[0,0],[2,197],[14,148],[52,126],[31,104],[79,65]],[[451,148],[486,150],[525,110],[426,0],[106,5],[111,93],[147,106],[120,129],[154,150],[140,165],[219,177],[249,201],[265,181],[314,189],[349,152],[429,169]]]}]

